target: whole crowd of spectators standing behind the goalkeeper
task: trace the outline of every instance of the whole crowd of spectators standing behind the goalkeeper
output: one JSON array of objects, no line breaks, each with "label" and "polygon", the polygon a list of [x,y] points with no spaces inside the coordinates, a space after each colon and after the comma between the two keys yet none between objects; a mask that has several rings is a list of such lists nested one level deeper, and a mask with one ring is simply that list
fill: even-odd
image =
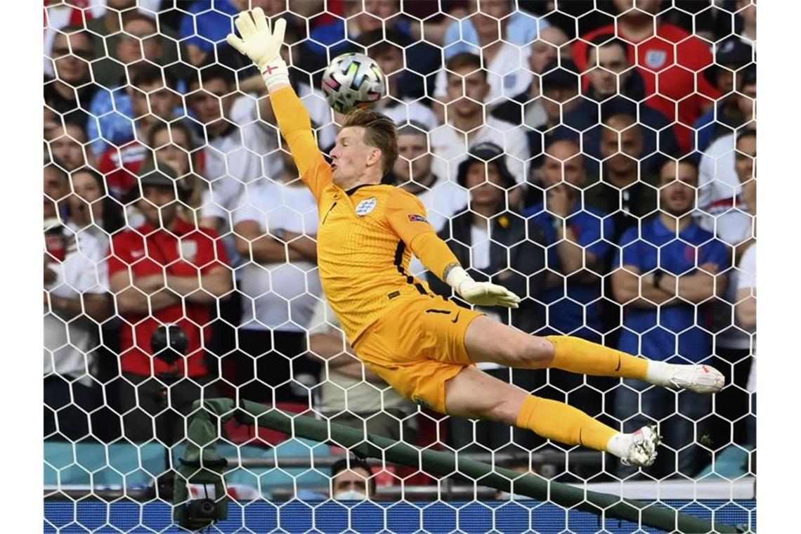
[{"label": "whole crowd of spectators standing behind the goalkeeper", "polygon": [[[288,19],[284,54],[324,151],[342,117],[320,70],[345,51],[379,62],[400,152],[384,182],[421,199],[473,278],[524,297],[482,311],[708,363],[728,384],[713,408],[636,381],[480,367],[626,432],[658,421],[653,476],[755,444],[749,0],[695,15],[612,0],[578,24],[593,2],[45,3],[47,439],[175,444],[193,401],[227,395],[418,442],[417,406],[361,365],[326,303],[315,201],[260,74],[225,43],[232,17],[260,6]],[[456,449],[543,443],[444,428]]]}]

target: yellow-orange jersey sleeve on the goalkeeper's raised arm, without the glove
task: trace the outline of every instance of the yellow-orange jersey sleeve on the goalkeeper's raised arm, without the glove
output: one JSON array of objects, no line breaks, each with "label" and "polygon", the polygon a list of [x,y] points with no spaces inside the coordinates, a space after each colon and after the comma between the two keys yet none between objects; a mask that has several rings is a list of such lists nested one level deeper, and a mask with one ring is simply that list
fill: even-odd
[{"label": "yellow-orange jersey sleeve on the goalkeeper's raised arm, without the glove", "polygon": [[270,95],[270,100],[281,135],[295,159],[300,179],[312,190],[319,203],[322,191],[331,182],[331,167],[317,147],[312,133],[312,119],[292,87],[276,91]]}]

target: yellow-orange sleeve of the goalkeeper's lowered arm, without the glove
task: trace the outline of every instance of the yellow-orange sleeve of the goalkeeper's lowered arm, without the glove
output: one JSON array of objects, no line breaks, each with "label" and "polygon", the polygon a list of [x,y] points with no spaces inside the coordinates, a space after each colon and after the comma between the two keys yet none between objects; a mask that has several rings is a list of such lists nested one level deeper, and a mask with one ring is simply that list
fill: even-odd
[{"label": "yellow-orange sleeve of the goalkeeper's lowered arm, without the glove", "polygon": [[425,218],[425,206],[416,196],[402,190],[393,191],[388,195],[386,215],[392,231],[434,275],[441,278],[445,267],[459,264],[453,251]]}]

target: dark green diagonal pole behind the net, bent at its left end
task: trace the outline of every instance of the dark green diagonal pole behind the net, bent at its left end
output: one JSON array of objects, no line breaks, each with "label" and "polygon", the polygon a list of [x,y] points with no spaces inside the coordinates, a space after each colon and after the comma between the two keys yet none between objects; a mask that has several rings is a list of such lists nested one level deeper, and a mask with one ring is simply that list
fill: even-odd
[{"label": "dark green diagonal pole behind the net, bent at its left end", "polygon": [[[449,452],[421,450],[383,436],[370,434],[365,436],[364,432],[355,428],[316,420],[310,416],[289,414],[264,404],[248,401],[243,401],[239,407],[231,399],[208,399],[203,403],[203,408],[200,408],[199,402],[195,403],[195,415],[187,434],[189,444],[182,460],[187,460],[188,464],[199,464],[200,472],[209,469],[214,471],[221,458],[215,448],[215,440],[219,436],[218,424],[233,416],[240,423],[272,428],[290,436],[320,443],[333,443],[362,458],[372,457],[394,464],[403,464],[437,476],[460,476],[465,480],[476,481],[501,491],[550,501],[582,512],[632,521],[667,532],[678,531],[685,534],[741,532],[734,526],[689,516],[659,504],[575,488],[535,474],[521,476],[511,469],[493,468],[489,464],[475,460],[458,460],[457,456]],[[198,418],[200,423],[195,424]],[[212,420],[218,421],[218,424],[214,424]],[[208,463],[211,463],[210,468],[204,469],[204,464]],[[190,481],[194,482],[191,479]],[[185,499],[186,493],[182,495]],[[177,492],[175,502],[181,502]]]}]

